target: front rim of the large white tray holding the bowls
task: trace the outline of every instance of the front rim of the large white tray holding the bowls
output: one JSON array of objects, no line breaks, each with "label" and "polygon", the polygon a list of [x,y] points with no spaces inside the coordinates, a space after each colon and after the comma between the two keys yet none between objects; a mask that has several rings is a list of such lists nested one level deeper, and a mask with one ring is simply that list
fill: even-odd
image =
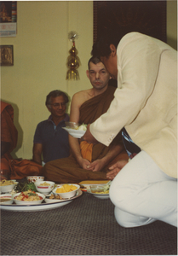
[{"label": "front rim of the large white tray holding the bowls", "polygon": [[0,210],[6,210],[6,211],[14,211],[14,212],[31,212],[31,211],[44,211],[44,210],[50,210],[58,207],[63,207],[66,204],[69,204],[74,199],[78,198],[80,195],[82,195],[83,192],[79,189],[77,192],[77,195],[72,197],[72,199],[68,200],[61,200],[58,202],[53,203],[42,203],[38,205],[1,205]]}]

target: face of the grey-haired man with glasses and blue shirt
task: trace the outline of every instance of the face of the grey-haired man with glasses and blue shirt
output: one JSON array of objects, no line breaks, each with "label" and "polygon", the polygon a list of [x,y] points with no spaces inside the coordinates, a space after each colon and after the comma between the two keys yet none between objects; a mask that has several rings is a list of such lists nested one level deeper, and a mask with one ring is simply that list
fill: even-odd
[{"label": "face of the grey-haired man with glasses and blue shirt", "polygon": [[63,96],[51,97],[49,112],[54,117],[64,117],[66,113],[66,102]]}]

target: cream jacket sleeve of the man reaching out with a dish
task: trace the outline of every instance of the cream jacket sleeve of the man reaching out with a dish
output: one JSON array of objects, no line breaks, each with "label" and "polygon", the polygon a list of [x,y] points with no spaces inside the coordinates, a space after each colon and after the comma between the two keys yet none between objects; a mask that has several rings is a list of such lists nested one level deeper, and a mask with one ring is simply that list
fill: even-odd
[{"label": "cream jacket sleeve of the man reaching out with a dish", "polygon": [[108,146],[125,125],[136,119],[154,90],[161,49],[152,38],[133,32],[118,44],[118,89],[106,113],[90,125],[90,132]]}]

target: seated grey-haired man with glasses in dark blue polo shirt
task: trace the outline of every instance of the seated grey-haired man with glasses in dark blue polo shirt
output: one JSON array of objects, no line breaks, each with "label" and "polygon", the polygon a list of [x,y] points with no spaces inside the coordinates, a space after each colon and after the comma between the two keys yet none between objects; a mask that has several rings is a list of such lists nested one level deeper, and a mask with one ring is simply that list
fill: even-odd
[{"label": "seated grey-haired man with glasses in dark blue polo shirt", "polygon": [[49,119],[37,125],[33,140],[33,157],[36,163],[42,165],[51,160],[68,157],[70,147],[68,143],[68,133],[62,127],[69,121],[66,113],[68,97],[63,91],[53,90],[46,97],[46,107],[51,115]]}]

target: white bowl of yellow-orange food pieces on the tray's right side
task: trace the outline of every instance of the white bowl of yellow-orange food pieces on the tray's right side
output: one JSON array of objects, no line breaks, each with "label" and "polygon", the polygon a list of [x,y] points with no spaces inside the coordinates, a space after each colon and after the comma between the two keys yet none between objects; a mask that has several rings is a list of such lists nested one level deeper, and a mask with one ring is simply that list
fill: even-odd
[{"label": "white bowl of yellow-orange food pieces on the tray's right side", "polygon": [[53,189],[53,193],[55,195],[60,195],[63,199],[66,199],[75,196],[78,189],[80,189],[78,184],[63,184]]}]

